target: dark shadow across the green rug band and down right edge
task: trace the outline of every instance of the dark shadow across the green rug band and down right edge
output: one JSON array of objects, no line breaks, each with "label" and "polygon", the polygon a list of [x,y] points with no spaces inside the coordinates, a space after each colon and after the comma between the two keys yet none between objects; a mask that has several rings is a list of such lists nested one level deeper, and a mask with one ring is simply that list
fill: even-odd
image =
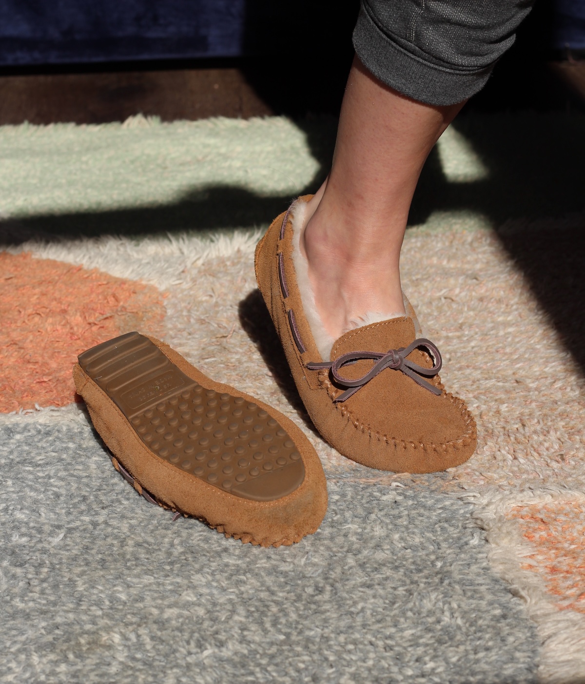
[{"label": "dark shadow across the green rug band and down right edge", "polygon": [[[336,122],[330,117],[296,122],[317,162],[296,192],[263,194],[229,184],[199,185],[172,202],[111,211],[30,215],[0,220],[0,243],[28,239],[213,231],[265,226],[294,196],[315,192],[330,166]],[[410,224],[441,213],[472,212],[499,228],[502,244],[527,276],[534,294],[585,372],[585,195],[580,160],[585,158],[585,117],[579,114],[460,116],[452,140],[432,150],[411,207]],[[445,138],[445,140],[447,140]],[[441,142],[441,141],[439,141]],[[278,150],[275,150],[278,163]],[[477,168],[465,172],[469,155]],[[466,156],[467,155],[467,156]],[[454,171],[450,171],[453,168]],[[463,169],[463,172],[462,172]],[[279,169],[279,172],[282,172]],[[517,233],[510,221],[559,219],[573,213],[570,231]]]}]

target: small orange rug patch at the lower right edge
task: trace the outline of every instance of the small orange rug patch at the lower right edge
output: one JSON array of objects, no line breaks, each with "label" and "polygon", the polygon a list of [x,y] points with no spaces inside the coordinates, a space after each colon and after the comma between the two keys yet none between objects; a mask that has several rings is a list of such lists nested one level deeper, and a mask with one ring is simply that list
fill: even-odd
[{"label": "small orange rug patch at the lower right edge", "polygon": [[547,592],[562,610],[585,613],[585,510],[578,503],[516,506],[523,535],[536,547],[523,564],[543,577]]}]

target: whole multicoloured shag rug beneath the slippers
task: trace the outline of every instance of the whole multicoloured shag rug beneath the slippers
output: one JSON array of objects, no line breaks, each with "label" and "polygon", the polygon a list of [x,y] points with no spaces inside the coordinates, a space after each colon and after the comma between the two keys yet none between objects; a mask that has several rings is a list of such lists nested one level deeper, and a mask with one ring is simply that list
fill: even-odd
[{"label": "whole multicoloured shag rug beneath the slippers", "polygon": [[[0,128],[1,681],[585,682],[585,120],[463,117],[428,161],[404,289],[479,434],[432,475],[321,440],[256,289],[257,239],[334,139],[329,119]],[[114,471],[70,368],[134,329],[304,430],[316,534],[226,540]]]}]

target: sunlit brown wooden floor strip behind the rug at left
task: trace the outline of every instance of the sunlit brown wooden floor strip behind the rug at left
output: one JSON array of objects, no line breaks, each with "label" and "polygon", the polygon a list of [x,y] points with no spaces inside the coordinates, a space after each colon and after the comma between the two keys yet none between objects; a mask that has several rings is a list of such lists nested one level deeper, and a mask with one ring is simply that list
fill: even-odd
[{"label": "sunlit brown wooden floor strip behind the rug at left", "polygon": [[272,114],[237,68],[0,77],[0,124],[164,121]]}]

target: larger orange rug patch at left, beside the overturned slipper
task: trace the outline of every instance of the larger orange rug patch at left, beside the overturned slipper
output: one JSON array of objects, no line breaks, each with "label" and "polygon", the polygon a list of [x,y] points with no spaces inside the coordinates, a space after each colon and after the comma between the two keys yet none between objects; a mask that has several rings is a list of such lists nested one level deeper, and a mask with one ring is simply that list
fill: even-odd
[{"label": "larger orange rug patch at left, beside the overturned slipper", "polygon": [[131,330],[159,335],[164,313],[151,285],[0,252],[0,412],[75,401],[77,354]]}]

